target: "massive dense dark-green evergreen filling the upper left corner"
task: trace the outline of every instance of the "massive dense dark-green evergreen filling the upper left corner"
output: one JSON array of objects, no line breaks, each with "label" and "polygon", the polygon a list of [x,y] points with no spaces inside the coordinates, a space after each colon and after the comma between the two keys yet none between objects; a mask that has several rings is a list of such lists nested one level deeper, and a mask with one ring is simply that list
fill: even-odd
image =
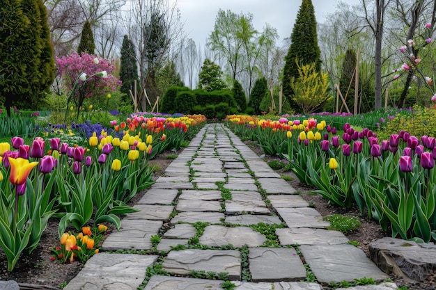
[{"label": "massive dense dark-green evergreen filling the upper left corner", "polygon": [[0,19],[0,97],[9,115],[11,106],[42,103],[55,67],[42,1],[4,0]]}]

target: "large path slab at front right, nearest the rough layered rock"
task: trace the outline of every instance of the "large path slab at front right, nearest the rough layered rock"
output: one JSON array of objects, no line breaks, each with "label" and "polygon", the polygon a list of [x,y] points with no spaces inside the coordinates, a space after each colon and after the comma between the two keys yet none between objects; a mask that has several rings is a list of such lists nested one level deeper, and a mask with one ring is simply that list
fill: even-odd
[{"label": "large path slab at front right, nearest the rough layered rock", "polygon": [[389,278],[366,257],[363,250],[354,245],[301,245],[299,250],[318,282],[352,282],[363,277],[380,281]]}]

